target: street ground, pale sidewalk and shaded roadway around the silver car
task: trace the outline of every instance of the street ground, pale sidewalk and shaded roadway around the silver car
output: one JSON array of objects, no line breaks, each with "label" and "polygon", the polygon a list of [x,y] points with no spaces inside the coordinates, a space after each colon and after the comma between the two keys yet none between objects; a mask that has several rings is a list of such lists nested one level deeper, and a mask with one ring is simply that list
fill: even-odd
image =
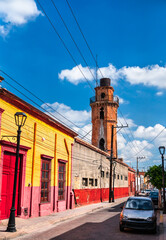
[{"label": "street ground, pale sidewalk and shaded roadway around the silver car", "polygon": [[5,232],[7,220],[0,223],[0,239],[166,239],[166,216],[158,212],[158,233],[119,231],[120,206],[127,198],[116,199],[114,203],[97,203],[45,217],[16,218],[17,232]]}]

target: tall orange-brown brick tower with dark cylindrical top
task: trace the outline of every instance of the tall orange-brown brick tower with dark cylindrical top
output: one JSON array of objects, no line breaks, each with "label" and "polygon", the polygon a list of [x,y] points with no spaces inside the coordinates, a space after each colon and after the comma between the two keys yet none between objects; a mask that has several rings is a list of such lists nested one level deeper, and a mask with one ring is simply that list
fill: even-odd
[{"label": "tall orange-brown brick tower with dark cylindrical top", "polygon": [[[111,129],[117,125],[118,97],[114,97],[114,88],[109,78],[100,79],[95,88],[96,95],[90,99],[92,108],[92,144],[101,150],[111,150]],[[113,157],[117,157],[116,128],[113,129]]]}]

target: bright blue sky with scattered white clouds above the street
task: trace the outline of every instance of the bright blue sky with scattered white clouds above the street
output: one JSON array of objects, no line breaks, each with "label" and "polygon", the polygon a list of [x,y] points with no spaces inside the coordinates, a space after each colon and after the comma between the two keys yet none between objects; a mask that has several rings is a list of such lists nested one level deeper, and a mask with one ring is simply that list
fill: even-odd
[{"label": "bright blue sky with scattered white clouds above the street", "polygon": [[[66,31],[51,0],[39,0],[75,62],[63,46],[38,1],[0,0],[0,69],[43,102],[59,111],[81,136],[91,129],[89,98],[95,87],[95,61],[83,40],[66,0],[54,0],[68,29],[91,69]],[[119,156],[135,167],[161,162],[158,146],[166,140],[166,2],[164,0],[68,0],[104,77],[111,78],[120,97]],[[76,64],[77,63],[77,64]],[[4,74],[2,87],[30,102],[7,83],[42,105]],[[98,71],[100,78],[100,72]],[[30,102],[32,103],[32,102]],[[48,105],[43,105],[48,111]],[[52,114],[65,121],[57,113]],[[160,134],[160,132],[163,132]],[[152,141],[160,134],[154,141]],[[90,139],[90,135],[87,136]],[[142,150],[144,148],[144,150]]]}]

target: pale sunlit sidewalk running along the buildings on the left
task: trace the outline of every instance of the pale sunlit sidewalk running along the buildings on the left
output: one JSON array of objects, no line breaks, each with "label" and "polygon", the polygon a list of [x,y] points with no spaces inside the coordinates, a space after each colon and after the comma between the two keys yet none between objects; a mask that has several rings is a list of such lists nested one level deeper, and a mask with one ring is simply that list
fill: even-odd
[{"label": "pale sunlit sidewalk running along the buildings on the left", "polygon": [[0,223],[0,239],[21,239],[21,236],[27,236],[35,232],[44,232],[51,229],[55,224],[65,221],[70,218],[81,216],[83,214],[100,210],[102,208],[109,208],[121,204],[126,201],[126,198],[116,199],[113,203],[102,202],[74,209],[69,209],[64,212],[53,213],[49,216],[22,219],[16,218],[16,229],[17,232],[10,233],[6,232],[8,219],[2,220]]}]

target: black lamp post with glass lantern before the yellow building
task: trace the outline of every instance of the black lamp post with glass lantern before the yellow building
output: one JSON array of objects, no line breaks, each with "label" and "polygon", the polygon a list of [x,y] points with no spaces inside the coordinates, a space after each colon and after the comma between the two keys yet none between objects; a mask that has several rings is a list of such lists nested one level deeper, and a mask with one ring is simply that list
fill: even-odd
[{"label": "black lamp post with glass lantern before the yellow building", "polygon": [[16,112],[15,115],[15,123],[18,126],[17,130],[17,150],[16,150],[16,162],[15,162],[15,174],[14,174],[14,186],[13,186],[13,199],[12,199],[12,207],[10,209],[10,217],[8,222],[8,227],[6,229],[7,232],[16,232],[15,227],[15,199],[16,199],[16,185],[17,185],[17,170],[18,170],[18,158],[19,158],[19,148],[20,148],[20,135],[21,135],[21,127],[24,126],[27,116],[23,112]]}]

